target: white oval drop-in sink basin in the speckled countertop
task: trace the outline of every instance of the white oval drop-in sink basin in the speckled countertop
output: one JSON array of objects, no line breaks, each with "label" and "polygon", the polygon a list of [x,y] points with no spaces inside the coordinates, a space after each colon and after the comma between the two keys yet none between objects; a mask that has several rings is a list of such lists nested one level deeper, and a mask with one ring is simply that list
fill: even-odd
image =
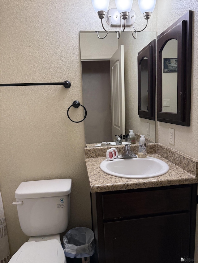
[{"label": "white oval drop-in sink basin in the speckled countertop", "polygon": [[169,171],[169,166],[166,162],[147,156],[113,161],[106,159],[101,162],[100,169],[106,174],[117,177],[142,179],[164,175]]}]

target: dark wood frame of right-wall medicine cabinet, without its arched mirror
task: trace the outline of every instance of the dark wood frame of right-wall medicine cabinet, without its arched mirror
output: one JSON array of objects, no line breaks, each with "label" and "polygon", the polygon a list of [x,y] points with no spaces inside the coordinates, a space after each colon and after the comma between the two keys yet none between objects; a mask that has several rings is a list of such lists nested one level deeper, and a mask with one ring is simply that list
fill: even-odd
[{"label": "dark wood frame of right-wall medicine cabinet, without its arched mirror", "polygon": [[[162,50],[178,41],[177,113],[162,112]],[[157,121],[190,126],[192,63],[192,11],[188,11],[157,37]]]}]

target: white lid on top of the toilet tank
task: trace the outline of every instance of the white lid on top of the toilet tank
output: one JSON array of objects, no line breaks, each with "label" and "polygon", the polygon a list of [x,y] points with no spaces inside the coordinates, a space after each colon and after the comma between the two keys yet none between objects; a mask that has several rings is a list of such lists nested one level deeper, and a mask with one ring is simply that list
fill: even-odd
[{"label": "white lid on top of the toilet tank", "polygon": [[15,198],[39,198],[69,195],[71,179],[54,179],[22,182],[15,191]]}]

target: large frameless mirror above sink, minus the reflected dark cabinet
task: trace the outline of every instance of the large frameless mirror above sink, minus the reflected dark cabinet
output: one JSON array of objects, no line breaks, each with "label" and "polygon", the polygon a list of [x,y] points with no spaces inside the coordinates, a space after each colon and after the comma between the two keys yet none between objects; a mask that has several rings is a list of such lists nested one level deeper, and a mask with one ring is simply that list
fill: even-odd
[{"label": "large frameless mirror above sink, minus the reflected dark cabinet", "polygon": [[131,31],[123,32],[119,39],[113,31],[105,39],[98,39],[95,31],[80,31],[87,147],[114,142],[116,134],[122,134],[124,144],[129,129],[137,140],[144,134],[147,142],[155,142],[155,121],[138,115],[137,71],[138,53],[153,39],[156,31],[140,32],[136,39]]}]

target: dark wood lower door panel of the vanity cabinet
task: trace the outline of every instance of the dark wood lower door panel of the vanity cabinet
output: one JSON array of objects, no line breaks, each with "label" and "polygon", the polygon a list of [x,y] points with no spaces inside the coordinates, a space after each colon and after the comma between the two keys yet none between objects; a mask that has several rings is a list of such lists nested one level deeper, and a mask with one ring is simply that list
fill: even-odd
[{"label": "dark wood lower door panel of the vanity cabinet", "polygon": [[180,262],[189,256],[190,213],[104,223],[106,263]]}]

